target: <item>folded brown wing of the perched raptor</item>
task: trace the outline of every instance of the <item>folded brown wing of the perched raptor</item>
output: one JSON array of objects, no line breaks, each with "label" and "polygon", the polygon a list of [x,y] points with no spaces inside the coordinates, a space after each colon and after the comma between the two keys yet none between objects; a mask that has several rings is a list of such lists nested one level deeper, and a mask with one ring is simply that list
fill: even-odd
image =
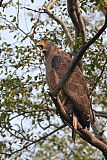
[{"label": "folded brown wing of the perched raptor", "polygon": [[[59,79],[62,78],[64,72],[67,69],[68,64],[71,62],[69,56],[64,55],[64,53],[60,52],[60,54],[56,54],[51,60],[51,67],[54,69],[57,77]],[[86,83],[84,77],[79,69],[76,67],[73,74],[66,82],[64,86],[64,92],[68,97],[76,102],[74,109],[77,113],[77,117],[80,119],[80,123],[84,123],[84,126],[89,127],[89,98],[86,90]],[[82,119],[82,120],[81,120]]]}]

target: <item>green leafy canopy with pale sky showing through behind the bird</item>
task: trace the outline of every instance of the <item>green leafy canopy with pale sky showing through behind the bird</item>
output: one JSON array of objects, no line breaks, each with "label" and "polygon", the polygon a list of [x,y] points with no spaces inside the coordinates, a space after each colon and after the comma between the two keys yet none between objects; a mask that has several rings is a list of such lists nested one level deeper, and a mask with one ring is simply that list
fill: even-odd
[{"label": "green leafy canopy with pale sky showing through behind the bird", "polygon": [[[10,1],[5,7],[1,7],[1,159],[101,159],[102,155],[79,137],[74,145],[71,129],[68,127],[45,138],[48,133],[61,126],[62,122],[56,115],[55,106],[48,95],[44,57],[37,49],[36,43],[40,38],[46,37],[70,53],[74,44],[70,48],[61,26],[42,13],[43,4],[43,0],[31,0],[26,3]],[[65,1],[58,1],[52,10],[66,22],[74,40],[74,28],[67,14]],[[81,11],[90,39],[102,26],[103,14],[88,0],[81,0]],[[83,58],[84,74],[93,107],[100,110],[107,110],[105,34],[90,47]],[[103,119],[99,120],[102,124],[105,123]],[[44,138],[39,141],[41,137]]]}]

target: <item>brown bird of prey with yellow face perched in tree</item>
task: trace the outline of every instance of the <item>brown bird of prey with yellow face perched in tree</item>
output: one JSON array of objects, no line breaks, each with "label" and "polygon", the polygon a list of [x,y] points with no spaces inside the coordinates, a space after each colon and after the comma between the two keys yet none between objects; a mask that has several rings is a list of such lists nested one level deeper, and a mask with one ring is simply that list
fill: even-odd
[{"label": "brown bird of prey with yellow face perched in tree", "polygon": [[[44,53],[46,79],[49,90],[52,91],[67,70],[72,58],[49,40],[42,39],[37,46]],[[57,100],[71,119],[69,126],[72,126],[72,138],[75,141],[78,122],[82,128],[88,129],[90,126],[90,100],[84,76],[78,66],[58,93]],[[66,119],[64,121],[66,122]]]}]

